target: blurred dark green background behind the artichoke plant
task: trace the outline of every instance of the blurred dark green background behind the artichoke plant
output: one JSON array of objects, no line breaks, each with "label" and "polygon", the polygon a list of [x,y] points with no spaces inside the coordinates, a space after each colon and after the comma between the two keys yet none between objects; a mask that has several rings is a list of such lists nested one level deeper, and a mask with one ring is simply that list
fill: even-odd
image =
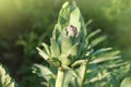
[{"label": "blurred dark green background behind the artichoke plant", "polygon": [[[59,10],[67,0],[0,0],[0,62],[20,87],[43,87],[43,78],[32,74],[34,63],[46,62],[36,46],[49,42]],[[131,1],[76,0],[85,22],[93,20],[88,32],[102,28],[104,45],[121,50],[131,61]]]}]

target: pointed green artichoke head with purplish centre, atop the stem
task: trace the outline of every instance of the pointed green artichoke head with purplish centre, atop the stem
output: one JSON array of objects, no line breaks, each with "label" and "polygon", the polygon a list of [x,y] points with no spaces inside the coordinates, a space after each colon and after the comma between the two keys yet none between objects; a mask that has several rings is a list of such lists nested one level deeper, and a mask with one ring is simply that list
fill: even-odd
[{"label": "pointed green artichoke head with purplish centre, atop the stem", "polygon": [[71,66],[85,50],[86,27],[80,9],[75,4],[66,2],[60,10],[55,25],[50,46],[43,44],[44,50],[39,54],[56,66]]}]

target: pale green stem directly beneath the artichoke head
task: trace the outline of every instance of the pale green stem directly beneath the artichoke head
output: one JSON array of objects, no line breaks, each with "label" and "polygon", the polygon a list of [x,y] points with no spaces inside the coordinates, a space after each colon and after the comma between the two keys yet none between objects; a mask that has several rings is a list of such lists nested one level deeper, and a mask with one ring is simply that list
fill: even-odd
[{"label": "pale green stem directly beneath the artichoke head", "polygon": [[64,79],[64,71],[61,67],[59,67],[58,74],[57,74],[57,79],[56,79],[56,87],[62,87],[63,79]]}]

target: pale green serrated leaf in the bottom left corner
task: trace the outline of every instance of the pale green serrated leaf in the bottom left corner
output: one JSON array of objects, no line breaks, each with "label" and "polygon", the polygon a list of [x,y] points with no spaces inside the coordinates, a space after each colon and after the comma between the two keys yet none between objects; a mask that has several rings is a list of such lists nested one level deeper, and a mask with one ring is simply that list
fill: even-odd
[{"label": "pale green serrated leaf in the bottom left corner", "polygon": [[0,87],[16,87],[15,82],[11,78],[2,64],[0,64]]}]

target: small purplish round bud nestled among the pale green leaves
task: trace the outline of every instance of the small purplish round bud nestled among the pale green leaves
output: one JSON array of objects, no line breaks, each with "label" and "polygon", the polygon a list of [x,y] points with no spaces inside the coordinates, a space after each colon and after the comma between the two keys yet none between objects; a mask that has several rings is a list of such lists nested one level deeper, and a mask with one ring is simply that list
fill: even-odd
[{"label": "small purplish round bud nestled among the pale green leaves", "polygon": [[67,36],[68,36],[68,37],[75,37],[76,34],[78,34],[76,27],[73,26],[73,25],[69,25],[69,26],[66,28],[66,32],[67,32]]}]

